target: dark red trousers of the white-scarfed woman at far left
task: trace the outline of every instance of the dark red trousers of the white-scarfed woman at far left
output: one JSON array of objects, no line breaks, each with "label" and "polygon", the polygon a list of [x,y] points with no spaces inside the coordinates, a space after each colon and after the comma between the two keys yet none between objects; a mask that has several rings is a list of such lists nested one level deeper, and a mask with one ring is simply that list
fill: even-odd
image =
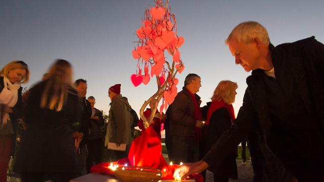
[{"label": "dark red trousers of the white-scarfed woman at far left", "polygon": [[0,182],[7,181],[12,135],[0,135]]}]

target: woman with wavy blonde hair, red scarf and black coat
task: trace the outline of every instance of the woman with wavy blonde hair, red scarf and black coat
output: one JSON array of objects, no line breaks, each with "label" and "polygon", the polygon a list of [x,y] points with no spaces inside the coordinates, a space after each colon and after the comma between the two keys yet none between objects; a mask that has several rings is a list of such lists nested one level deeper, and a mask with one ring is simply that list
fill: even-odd
[{"label": "woman with wavy blonde hair, red scarf and black coat", "polygon": [[[211,102],[207,103],[207,120],[204,128],[203,156],[209,151],[218,138],[231,126],[235,119],[232,103],[235,101],[237,84],[231,81],[221,81],[216,87]],[[214,173],[214,182],[228,182],[237,179],[237,151],[228,151],[232,155],[224,159],[218,169],[209,169]]]}]

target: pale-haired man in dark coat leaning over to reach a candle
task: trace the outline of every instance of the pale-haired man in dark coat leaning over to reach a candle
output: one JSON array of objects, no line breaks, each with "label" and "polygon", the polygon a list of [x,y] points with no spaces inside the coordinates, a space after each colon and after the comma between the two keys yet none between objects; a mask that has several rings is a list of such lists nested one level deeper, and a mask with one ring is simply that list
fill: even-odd
[{"label": "pale-haired man in dark coat leaning over to reach a candle", "polygon": [[261,150],[275,155],[298,182],[323,181],[324,45],[313,36],[274,47],[267,30],[254,21],[237,25],[226,43],[235,63],[252,71],[243,105],[206,156],[174,175],[217,168],[228,150],[258,131]]}]

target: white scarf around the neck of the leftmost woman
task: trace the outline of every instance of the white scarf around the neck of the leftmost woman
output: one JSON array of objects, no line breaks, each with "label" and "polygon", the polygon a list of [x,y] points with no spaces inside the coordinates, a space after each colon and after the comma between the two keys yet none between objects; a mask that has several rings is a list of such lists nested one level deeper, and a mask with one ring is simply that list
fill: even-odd
[{"label": "white scarf around the neck of the leftmost woman", "polygon": [[[11,84],[9,79],[3,76],[3,89],[0,92],[0,103],[4,103],[9,107],[13,107],[18,100],[19,88],[19,83]],[[0,113],[0,117],[3,117],[3,123],[0,126],[2,127],[7,123],[7,120],[9,120],[10,118],[8,113]]]}]

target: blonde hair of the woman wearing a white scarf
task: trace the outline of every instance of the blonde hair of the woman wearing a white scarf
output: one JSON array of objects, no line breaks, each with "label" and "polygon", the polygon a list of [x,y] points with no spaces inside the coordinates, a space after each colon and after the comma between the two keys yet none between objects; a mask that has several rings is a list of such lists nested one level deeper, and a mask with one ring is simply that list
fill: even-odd
[{"label": "blonde hair of the woman wearing a white scarf", "polygon": [[15,69],[21,69],[21,70],[25,70],[26,71],[26,75],[25,77],[22,79],[22,81],[20,82],[21,84],[28,82],[29,80],[29,69],[28,69],[28,65],[23,62],[23,61],[11,61],[10,63],[8,63],[7,65],[5,65],[1,71],[0,71],[0,75],[3,75],[5,77],[8,78],[8,73],[11,70],[15,70]]}]

